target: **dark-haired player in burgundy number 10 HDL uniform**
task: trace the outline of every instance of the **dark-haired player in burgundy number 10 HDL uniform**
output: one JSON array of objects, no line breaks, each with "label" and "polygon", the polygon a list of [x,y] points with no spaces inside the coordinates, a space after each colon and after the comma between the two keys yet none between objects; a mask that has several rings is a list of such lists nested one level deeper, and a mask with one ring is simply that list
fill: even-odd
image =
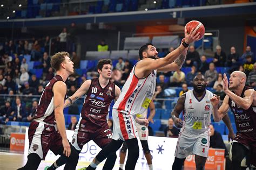
[{"label": "dark-haired player in burgundy number 10 HDL uniform", "polygon": [[[109,114],[109,105],[113,99],[118,98],[121,90],[110,81],[112,72],[112,61],[110,59],[99,60],[97,69],[99,77],[86,80],[76,93],[65,102],[65,107],[68,107],[86,94],[72,139],[72,145],[78,153],[90,140],[93,140],[99,147],[103,148],[110,143],[112,138],[112,132],[109,129],[109,125],[107,125],[107,115]],[[107,157],[103,169],[112,169],[116,158],[116,153],[112,152]],[[65,161],[65,157],[60,157],[48,170],[62,166]]]}]

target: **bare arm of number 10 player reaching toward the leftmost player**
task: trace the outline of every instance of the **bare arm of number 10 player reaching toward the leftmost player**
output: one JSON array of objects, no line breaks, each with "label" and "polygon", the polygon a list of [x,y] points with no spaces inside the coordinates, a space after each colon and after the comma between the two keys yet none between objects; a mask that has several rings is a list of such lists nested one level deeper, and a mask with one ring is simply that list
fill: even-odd
[{"label": "bare arm of number 10 player reaching toward the leftmost player", "polygon": [[86,92],[89,90],[90,86],[91,86],[91,80],[86,80],[82,86],[76,91],[75,94],[73,94],[72,96],[70,96],[64,104],[64,107],[69,107],[70,105],[72,105],[76,100],[78,100],[78,98],[82,97],[83,95],[86,94]]}]

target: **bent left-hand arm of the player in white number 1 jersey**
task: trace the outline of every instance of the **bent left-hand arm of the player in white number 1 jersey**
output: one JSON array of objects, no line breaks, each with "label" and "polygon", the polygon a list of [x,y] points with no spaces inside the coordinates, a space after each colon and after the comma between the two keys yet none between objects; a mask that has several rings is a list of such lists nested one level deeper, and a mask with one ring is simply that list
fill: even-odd
[{"label": "bent left-hand arm of the player in white number 1 jersey", "polygon": [[185,99],[186,99],[186,93],[179,97],[179,99],[171,113],[172,120],[173,120],[174,124],[177,126],[177,128],[182,128],[182,126],[183,126],[183,122],[179,118],[179,114],[181,111],[184,110]]}]

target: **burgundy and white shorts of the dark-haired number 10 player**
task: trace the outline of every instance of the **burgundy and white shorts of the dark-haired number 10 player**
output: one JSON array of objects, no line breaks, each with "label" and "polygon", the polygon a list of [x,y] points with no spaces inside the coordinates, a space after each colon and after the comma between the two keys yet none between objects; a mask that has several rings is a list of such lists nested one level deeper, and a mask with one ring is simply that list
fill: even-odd
[{"label": "burgundy and white shorts of the dark-haired number 10 player", "polygon": [[[93,140],[100,148],[105,147],[112,140],[112,132],[109,129],[109,125],[105,123],[101,128],[96,131],[91,131],[90,126],[84,119],[79,119],[79,128],[75,130],[72,137],[72,145],[76,150],[81,151],[83,146],[90,140]],[[83,126],[86,124],[86,127]]]}]

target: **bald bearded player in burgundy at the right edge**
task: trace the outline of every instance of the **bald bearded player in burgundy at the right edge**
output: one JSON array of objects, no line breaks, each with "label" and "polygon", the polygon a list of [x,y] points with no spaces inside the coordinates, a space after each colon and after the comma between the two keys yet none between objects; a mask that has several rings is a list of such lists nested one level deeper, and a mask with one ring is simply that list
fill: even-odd
[{"label": "bald bearded player in burgundy at the right edge", "polygon": [[232,143],[232,164],[235,170],[241,169],[241,161],[247,154],[251,155],[251,164],[256,166],[256,92],[253,88],[245,86],[245,82],[244,72],[233,72],[229,85],[224,74],[223,91],[226,97],[219,110],[217,106],[220,97],[213,96],[211,99],[213,111],[218,115],[217,121],[220,121],[230,108],[234,114],[237,133]]}]

